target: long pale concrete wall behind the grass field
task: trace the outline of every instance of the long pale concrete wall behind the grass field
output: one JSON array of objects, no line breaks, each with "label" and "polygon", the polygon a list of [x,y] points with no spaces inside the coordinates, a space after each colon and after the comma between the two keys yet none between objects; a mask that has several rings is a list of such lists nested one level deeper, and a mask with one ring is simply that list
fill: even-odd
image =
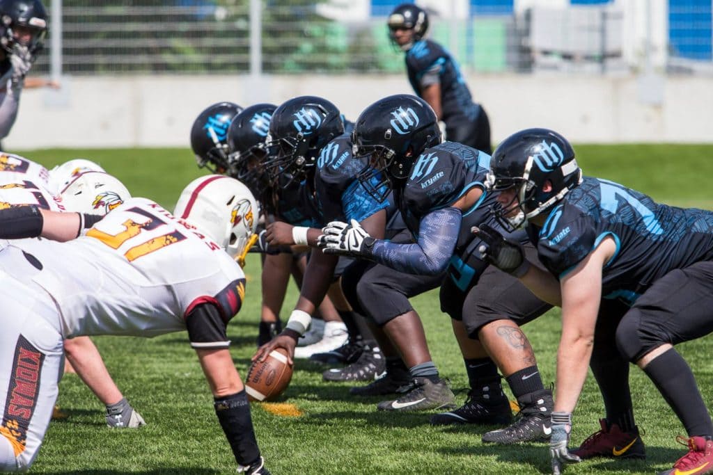
[{"label": "long pale concrete wall behind the grass field", "polygon": [[[713,142],[710,78],[662,78],[660,105],[641,99],[636,76],[467,79],[490,115],[493,142],[533,126],[551,127],[574,142]],[[188,147],[195,117],[220,100],[247,106],[322,95],[354,120],[367,105],[394,93],[411,93],[405,75],[273,76],[257,82],[247,75],[67,78],[59,91],[24,91],[4,146]]]}]

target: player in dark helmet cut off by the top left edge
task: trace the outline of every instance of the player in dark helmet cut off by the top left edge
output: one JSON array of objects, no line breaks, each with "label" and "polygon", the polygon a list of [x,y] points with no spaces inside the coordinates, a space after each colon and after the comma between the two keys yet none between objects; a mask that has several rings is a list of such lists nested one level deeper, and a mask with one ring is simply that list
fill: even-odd
[{"label": "player in dark helmet cut off by the top left edge", "polygon": [[53,81],[25,78],[46,32],[47,13],[40,0],[0,0],[0,140],[15,123],[23,88],[59,87]]}]

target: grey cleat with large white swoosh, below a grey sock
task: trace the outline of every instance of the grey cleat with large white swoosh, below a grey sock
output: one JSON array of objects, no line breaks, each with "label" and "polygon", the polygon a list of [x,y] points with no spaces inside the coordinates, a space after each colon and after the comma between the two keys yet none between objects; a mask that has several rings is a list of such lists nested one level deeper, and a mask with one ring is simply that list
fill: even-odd
[{"label": "grey cleat with large white swoosh, below a grey sock", "polygon": [[456,396],[448,381],[438,378],[414,377],[408,385],[399,387],[399,398],[376,404],[380,411],[425,411],[428,409],[454,409]]}]

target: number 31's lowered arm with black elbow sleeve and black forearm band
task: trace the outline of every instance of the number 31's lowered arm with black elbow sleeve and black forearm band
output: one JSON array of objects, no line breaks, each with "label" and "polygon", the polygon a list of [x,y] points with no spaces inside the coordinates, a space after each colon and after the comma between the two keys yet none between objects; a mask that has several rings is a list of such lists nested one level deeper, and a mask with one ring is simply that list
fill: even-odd
[{"label": "number 31's lowered arm with black elbow sleeve and black forearm band", "polygon": [[213,395],[215,414],[235,461],[240,466],[250,466],[260,461],[260,449],[252,427],[245,386],[227,349],[225,318],[217,306],[200,303],[186,315],[185,322],[190,344],[198,354]]}]

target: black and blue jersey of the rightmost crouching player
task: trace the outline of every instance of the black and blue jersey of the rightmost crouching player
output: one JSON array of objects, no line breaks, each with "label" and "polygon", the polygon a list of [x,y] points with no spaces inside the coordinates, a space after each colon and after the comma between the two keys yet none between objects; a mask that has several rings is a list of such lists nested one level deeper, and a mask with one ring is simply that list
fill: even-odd
[{"label": "black and blue jersey of the rightmost crouching player", "polygon": [[632,304],[652,283],[677,268],[713,259],[713,212],[658,204],[605,179],[585,177],[550,212],[530,225],[540,261],[565,276],[607,236],[615,255],[602,269],[602,297]]}]

